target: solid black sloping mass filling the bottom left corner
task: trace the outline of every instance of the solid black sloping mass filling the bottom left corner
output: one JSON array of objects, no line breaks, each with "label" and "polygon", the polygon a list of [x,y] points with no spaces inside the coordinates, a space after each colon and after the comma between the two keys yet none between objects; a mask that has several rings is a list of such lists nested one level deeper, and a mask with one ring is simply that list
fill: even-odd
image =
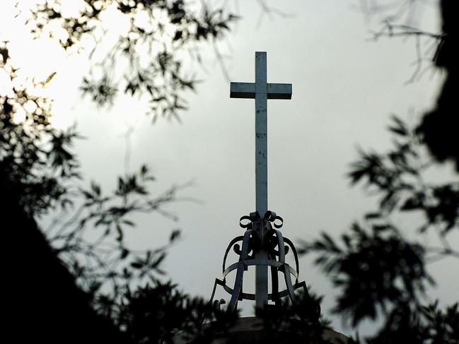
[{"label": "solid black sloping mass filling the bottom left corner", "polygon": [[77,286],[3,173],[1,230],[10,257],[5,338],[18,343],[127,343],[120,328],[94,312],[92,295]]}]

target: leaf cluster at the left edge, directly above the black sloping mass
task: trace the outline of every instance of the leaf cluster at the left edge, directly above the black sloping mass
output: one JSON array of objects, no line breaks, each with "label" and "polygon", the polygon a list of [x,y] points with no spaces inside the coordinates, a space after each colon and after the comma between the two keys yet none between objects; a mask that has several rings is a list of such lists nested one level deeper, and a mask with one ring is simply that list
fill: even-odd
[{"label": "leaf cluster at the left edge, directly above the black sloping mass", "polygon": [[20,195],[25,212],[41,215],[56,202],[71,203],[67,183],[80,177],[71,144],[79,136],[74,129],[50,126],[52,100],[40,95],[36,85],[16,83],[18,67],[5,42],[1,55],[0,68],[14,86],[12,94],[0,94],[0,171],[9,191]]}]

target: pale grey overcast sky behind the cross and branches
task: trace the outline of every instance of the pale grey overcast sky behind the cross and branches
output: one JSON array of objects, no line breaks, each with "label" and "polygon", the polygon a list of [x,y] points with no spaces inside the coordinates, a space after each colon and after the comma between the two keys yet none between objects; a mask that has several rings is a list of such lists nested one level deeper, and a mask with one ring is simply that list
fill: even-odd
[{"label": "pale grey overcast sky behind the cross and branches", "polygon": [[[371,41],[368,30],[379,28],[378,21],[368,20],[351,3],[281,1],[278,8],[294,16],[265,16],[257,25],[257,1],[239,1],[243,18],[221,46],[229,54],[225,63],[231,81],[253,82],[255,52],[265,51],[268,82],[293,84],[291,100],[268,101],[268,204],[284,218],[282,232],[294,243],[313,239],[321,230],[338,235],[375,209],[375,199],[359,187],[351,189],[346,178],[356,147],[390,147],[385,129],[390,114],[414,123],[434,104],[442,81],[440,73],[426,73],[406,84],[414,71],[414,41]],[[438,13],[429,7],[418,13],[422,27],[437,31]],[[190,63],[202,83],[197,93],[186,95],[190,109],[182,113],[181,124],[160,120],[151,125],[144,116],[146,104],[124,97],[110,111],[81,100],[78,87],[87,66],[78,57],[66,62],[53,87],[56,107],[66,114],[62,123],[75,120],[88,138],[76,145],[87,180],[114,188],[124,170],[124,134],[132,126],[129,167],[134,171],[146,162],[152,168],[158,179],[153,192],[194,181],[180,194],[202,203],[168,206],[180,217],[178,223],[155,214],[137,218],[129,240],[137,247],[158,247],[180,227],[182,240],[170,250],[165,270],[185,291],[210,297],[226,245],[243,233],[238,219],[255,210],[255,140],[254,101],[230,99],[229,81],[211,49],[205,57],[207,72]],[[409,225],[409,219],[404,221]],[[310,259],[300,264],[301,280],[325,295],[327,314],[335,292]],[[448,303],[458,300],[458,274],[451,276],[446,263],[430,268],[440,282],[432,295]],[[251,311],[249,304],[243,314]]]}]

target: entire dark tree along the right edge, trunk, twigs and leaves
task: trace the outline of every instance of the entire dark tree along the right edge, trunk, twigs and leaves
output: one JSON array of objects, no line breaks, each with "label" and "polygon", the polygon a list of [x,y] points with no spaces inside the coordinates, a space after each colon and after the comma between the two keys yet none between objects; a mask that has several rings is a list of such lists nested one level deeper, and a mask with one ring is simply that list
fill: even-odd
[{"label": "entire dark tree along the right edge, trunk, twigs and leaves", "polygon": [[[433,61],[445,69],[446,81],[438,97],[436,109],[424,115],[419,124],[408,126],[393,117],[389,130],[394,147],[387,153],[360,152],[351,165],[352,184],[364,182],[380,196],[379,208],[354,223],[339,239],[323,233],[320,239],[305,242],[303,253],[314,253],[315,262],[339,290],[334,312],[349,320],[351,326],[361,321],[379,319],[378,329],[365,343],[459,343],[458,300],[441,309],[438,300],[426,304],[426,286],[434,280],[426,272],[426,264],[449,257],[459,260],[459,246],[451,242],[451,234],[459,230],[458,175],[448,182],[426,178],[438,162],[451,160],[458,170],[457,111],[453,94],[458,86],[457,1],[441,1],[443,32],[431,34],[398,23],[411,20],[410,7],[419,1],[363,1],[373,11],[388,14],[382,35],[415,36],[434,39],[437,44]],[[404,19],[405,18],[405,19]],[[408,19],[406,19],[408,18]],[[419,59],[415,73],[422,63]],[[414,79],[412,79],[414,80]],[[429,153],[431,155],[429,155]],[[404,229],[393,220],[395,214],[422,215],[419,235],[434,232],[438,246],[433,247],[409,239]],[[455,269],[459,266],[456,261]],[[375,325],[376,326],[376,325]]]}]

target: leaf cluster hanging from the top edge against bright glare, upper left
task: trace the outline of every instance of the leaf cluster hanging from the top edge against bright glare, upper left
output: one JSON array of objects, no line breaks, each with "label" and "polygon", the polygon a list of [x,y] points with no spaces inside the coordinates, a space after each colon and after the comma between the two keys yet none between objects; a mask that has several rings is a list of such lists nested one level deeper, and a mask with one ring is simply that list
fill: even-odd
[{"label": "leaf cluster hanging from the top edge against bright glare, upper left", "polygon": [[[75,13],[63,11],[59,0],[37,4],[28,20],[30,30],[38,37],[50,32],[49,28],[61,28],[59,42],[68,51],[88,49],[90,40],[93,66],[83,78],[83,93],[99,106],[112,105],[120,92],[144,96],[153,120],[179,119],[178,112],[187,108],[182,93],[194,90],[197,82],[190,67],[184,66],[183,57],[187,54],[198,63],[202,61],[200,42],[218,51],[217,43],[238,19],[225,7],[211,8],[204,2],[75,1],[79,4]],[[128,28],[107,48],[103,44],[112,28],[103,28],[103,18],[110,11],[117,13],[112,20],[122,19]]]}]

